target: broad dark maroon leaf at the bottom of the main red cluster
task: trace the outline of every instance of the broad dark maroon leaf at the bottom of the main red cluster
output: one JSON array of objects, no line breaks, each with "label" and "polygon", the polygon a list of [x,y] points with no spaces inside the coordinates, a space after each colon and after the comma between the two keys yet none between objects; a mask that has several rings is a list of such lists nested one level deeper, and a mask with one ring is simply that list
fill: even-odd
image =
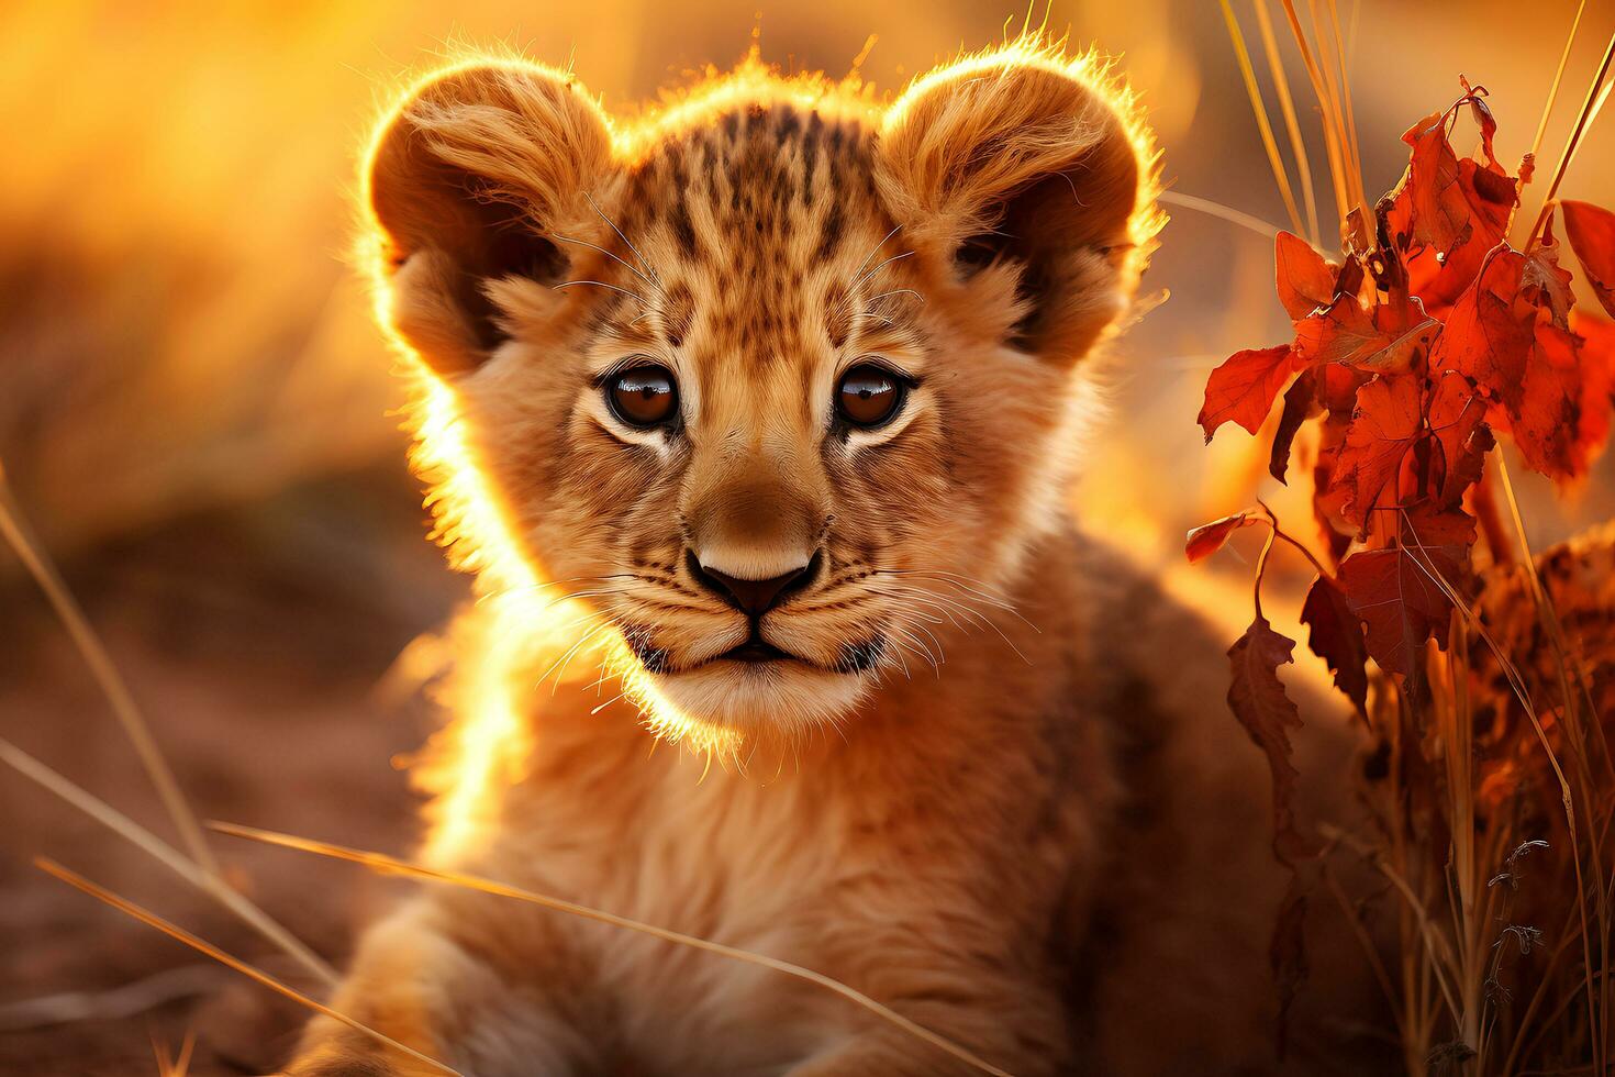
[{"label": "broad dark maroon leaf at the bottom of the main red cluster", "polygon": [[[1457,586],[1458,565],[1439,551],[1423,551],[1424,560]],[[1415,672],[1420,649],[1431,636],[1447,646],[1452,601],[1402,547],[1352,554],[1340,564],[1352,612],[1368,625],[1368,654],[1389,673]]]}]

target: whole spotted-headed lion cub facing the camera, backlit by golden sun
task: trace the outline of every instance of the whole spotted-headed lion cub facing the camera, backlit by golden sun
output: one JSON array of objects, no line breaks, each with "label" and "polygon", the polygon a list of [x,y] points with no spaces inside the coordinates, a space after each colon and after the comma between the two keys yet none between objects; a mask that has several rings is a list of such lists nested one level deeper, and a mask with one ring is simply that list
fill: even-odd
[{"label": "whole spotted-headed lion cub facing the camera, backlit by golden sun", "polygon": [[[1155,192],[1130,95],[1042,42],[887,107],[754,60],[635,123],[520,61],[417,86],[376,274],[484,596],[428,856],[998,1072],[1271,1071],[1286,877],[1224,644],[1066,507]],[[455,888],[334,1004],[478,1077],[979,1072]],[[320,1020],[289,1072],[434,1071]]]}]

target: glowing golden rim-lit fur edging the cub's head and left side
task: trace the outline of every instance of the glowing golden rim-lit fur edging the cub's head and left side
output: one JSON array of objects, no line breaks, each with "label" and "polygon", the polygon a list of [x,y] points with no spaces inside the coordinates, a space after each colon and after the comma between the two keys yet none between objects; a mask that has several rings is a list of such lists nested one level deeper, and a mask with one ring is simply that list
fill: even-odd
[{"label": "glowing golden rim-lit fur edging the cub's head and left side", "polygon": [[[1155,140],[1140,105],[1114,73],[1111,61],[1093,52],[1068,58],[1064,45],[1064,39],[1029,32],[1001,47],[961,55],[954,63],[917,79],[914,86],[1011,61],[1068,73],[1101,94],[1122,116],[1139,160],[1145,163],[1139,178],[1140,210],[1130,221],[1129,270],[1139,273],[1164,223],[1155,200]],[[475,614],[462,617],[454,628],[454,651],[460,662],[439,689],[439,701],[452,722],[433,740],[415,775],[420,786],[434,798],[430,812],[433,828],[426,841],[426,856],[433,862],[454,859],[489,830],[499,811],[501,790],[523,773],[535,735],[531,712],[544,706],[551,691],[594,688],[602,704],[623,698],[638,707],[644,725],[657,738],[678,743],[709,762],[715,759],[720,765],[736,762],[743,738],[673,706],[644,673],[617,631],[601,623],[581,601],[567,597],[560,583],[551,581],[541,565],[523,555],[510,531],[505,507],[467,441],[452,379],[433,375],[391,329],[386,241],[368,208],[375,142],[420,86],[449,71],[486,63],[539,68],[515,55],[467,52],[413,79],[381,110],[360,171],[360,262],[371,283],[376,323],[402,357],[415,389],[407,413],[415,434],[413,465],[430,486],[426,505],[436,522],[434,538],[447,549],[457,568],[476,576],[480,596]],[[567,76],[564,71],[551,73]],[[877,100],[874,86],[856,73],[840,81],[827,79],[822,73],[787,78],[762,63],[753,50],[733,71],[709,68],[701,82],[665,94],[661,103],[636,118],[607,116],[614,153],[622,161],[635,161],[669,134],[709,123],[736,102],[757,98],[787,100],[872,124],[890,113]],[[465,638],[460,638],[462,633]],[[609,689],[607,685],[617,688]]]}]

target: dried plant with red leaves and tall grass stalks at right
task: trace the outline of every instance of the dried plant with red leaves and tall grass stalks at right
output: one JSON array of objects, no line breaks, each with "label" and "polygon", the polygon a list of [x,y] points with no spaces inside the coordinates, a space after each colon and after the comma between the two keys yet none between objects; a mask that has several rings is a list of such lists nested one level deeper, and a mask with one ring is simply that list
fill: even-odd
[{"label": "dried plant with red leaves and tall grass stalks at right", "polygon": [[[1255,10],[1282,87],[1265,0]],[[1324,119],[1340,247],[1326,255],[1316,233],[1303,237],[1224,3],[1295,228],[1279,233],[1274,255],[1295,333],[1218,367],[1200,423],[1206,441],[1229,421],[1269,436],[1279,483],[1305,444],[1323,539],[1315,552],[1258,502],[1187,543],[1200,560],[1242,528],[1266,530],[1255,620],[1229,651],[1229,706],[1269,759],[1274,851],[1295,872],[1274,938],[1279,983],[1287,996],[1298,987],[1294,911],[1313,888],[1326,885],[1358,916],[1329,862],[1360,856],[1392,903],[1394,961],[1381,961],[1366,925],[1360,935],[1410,1074],[1604,1074],[1615,1017],[1615,764],[1605,727],[1615,696],[1615,528],[1533,559],[1497,434],[1531,470],[1573,484],[1610,433],[1615,325],[1575,307],[1554,226],[1562,220],[1586,284],[1615,315],[1615,213],[1557,202],[1609,92],[1615,37],[1515,247],[1508,237],[1536,149],[1513,173],[1497,160],[1486,89],[1460,76],[1460,95],[1402,136],[1407,173],[1370,205],[1336,5],[1308,3],[1311,34],[1292,0],[1284,13]],[[1452,145],[1465,115],[1479,136],[1473,157]],[[1305,161],[1294,128],[1292,147]],[[1292,799],[1307,775],[1292,762],[1290,735],[1302,719],[1277,677],[1295,641],[1261,609],[1277,543],[1316,570],[1300,620],[1361,719],[1370,833],[1297,822]]]}]

